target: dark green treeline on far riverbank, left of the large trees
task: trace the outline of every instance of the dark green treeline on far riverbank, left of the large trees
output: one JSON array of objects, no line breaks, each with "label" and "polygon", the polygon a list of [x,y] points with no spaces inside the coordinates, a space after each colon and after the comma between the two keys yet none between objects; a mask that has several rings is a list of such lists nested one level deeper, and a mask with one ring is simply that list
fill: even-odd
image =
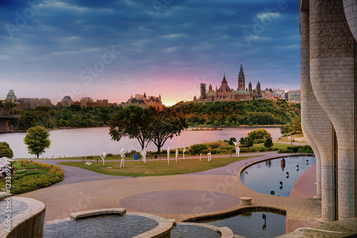
[{"label": "dark green treeline on far riverbank, left of the large trees", "polygon": [[21,110],[19,130],[27,130],[35,125],[44,128],[87,128],[104,126],[118,107],[81,108],[71,105],[68,108],[37,107],[35,110]]}]

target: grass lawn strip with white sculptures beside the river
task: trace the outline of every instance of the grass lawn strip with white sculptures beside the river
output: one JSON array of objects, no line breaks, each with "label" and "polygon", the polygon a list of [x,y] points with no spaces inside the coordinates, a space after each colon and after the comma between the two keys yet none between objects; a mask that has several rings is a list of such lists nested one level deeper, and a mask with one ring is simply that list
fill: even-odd
[{"label": "grass lawn strip with white sculptures beside the river", "polygon": [[170,160],[170,165],[167,165],[167,160],[146,160],[146,164],[139,161],[126,161],[125,168],[120,168],[120,161],[106,161],[105,166],[102,162],[91,164],[89,169],[84,162],[60,162],[59,165],[69,165],[74,167],[81,167],[86,170],[100,172],[106,175],[122,175],[122,176],[160,176],[160,175],[181,175],[190,172],[200,172],[211,170],[216,167],[223,167],[232,162],[250,159],[256,156],[245,157],[213,157],[210,162],[207,157],[203,157],[202,161],[198,159],[188,160]]}]

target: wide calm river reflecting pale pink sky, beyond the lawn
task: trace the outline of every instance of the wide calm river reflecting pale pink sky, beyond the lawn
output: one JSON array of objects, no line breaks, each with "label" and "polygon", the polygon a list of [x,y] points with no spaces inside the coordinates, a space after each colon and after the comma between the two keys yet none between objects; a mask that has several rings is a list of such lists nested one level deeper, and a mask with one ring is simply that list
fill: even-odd
[{"label": "wide calm river reflecting pale pink sky, beyond the lawn", "polygon": [[[206,143],[214,140],[229,140],[229,138],[246,137],[249,132],[258,128],[223,128],[223,130],[185,130],[178,137],[167,140],[163,150],[167,146],[171,149],[185,146]],[[271,133],[273,138],[281,136],[280,128],[265,128]],[[141,150],[137,140],[122,138],[119,142],[111,140],[109,128],[76,128],[52,130],[50,135],[51,147],[40,157],[72,157],[85,155],[101,155],[106,153],[119,154],[121,148],[127,151]],[[30,155],[24,144],[26,133],[3,133],[0,134],[0,141],[9,143],[14,151],[14,158],[29,158]],[[156,151],[156,146],[151,143],[148,151]]]}]

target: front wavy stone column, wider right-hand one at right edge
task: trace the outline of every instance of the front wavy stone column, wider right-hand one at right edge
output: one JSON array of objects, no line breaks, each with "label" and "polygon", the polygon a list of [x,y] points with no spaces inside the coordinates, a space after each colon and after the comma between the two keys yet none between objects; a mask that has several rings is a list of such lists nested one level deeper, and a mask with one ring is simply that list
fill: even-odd
[{"label": "front wavy stone column, wider right-hand one at right edge", "polygon": [[338,219],[355,217],[355,40],[342,1],[311,0],[309,11],[311,86],[338,141]]}]

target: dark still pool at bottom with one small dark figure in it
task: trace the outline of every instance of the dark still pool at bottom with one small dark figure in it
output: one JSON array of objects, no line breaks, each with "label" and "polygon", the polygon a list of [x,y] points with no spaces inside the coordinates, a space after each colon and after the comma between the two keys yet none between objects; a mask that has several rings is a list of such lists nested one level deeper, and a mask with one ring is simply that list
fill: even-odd
[{"label": "dark still pool at bottom with one small dark figure in it", "polygon": [[[266,214],[264,221],[263,214]],[[242,237],[278,237],[285,234],[286,216],[270,211],[244,211],[232,217],[204,220],[200,223],[211,224],[216,227],[228,227],[234,234]]]}]

